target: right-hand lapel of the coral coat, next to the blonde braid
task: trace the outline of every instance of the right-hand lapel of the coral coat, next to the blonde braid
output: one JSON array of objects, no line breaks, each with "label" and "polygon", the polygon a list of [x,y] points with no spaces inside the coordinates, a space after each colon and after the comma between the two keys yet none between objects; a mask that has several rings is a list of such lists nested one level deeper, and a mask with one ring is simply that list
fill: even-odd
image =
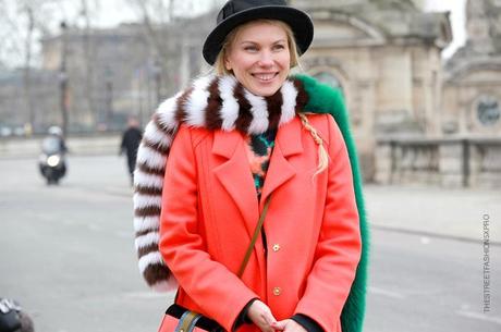
[{"label": "right-hand lapel of the coral coat, next to the blonde braid", "polygon": [[262,187],[259,205],[260,211],[262,210],[266,198],[296,174],[296,170],[289,162],[288,158],[303,152],[301,131],[302,127],[298,119],[294,119],[279,128]]}]

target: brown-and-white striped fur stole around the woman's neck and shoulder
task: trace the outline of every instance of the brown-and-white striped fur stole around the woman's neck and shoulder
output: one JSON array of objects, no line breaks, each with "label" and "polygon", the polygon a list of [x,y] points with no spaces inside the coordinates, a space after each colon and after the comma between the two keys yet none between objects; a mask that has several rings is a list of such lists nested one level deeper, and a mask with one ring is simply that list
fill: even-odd
[{"label": "brown-and-white striped fur stole around the woman's neck and shoulder", "polygon": [[181,123],[208,130],[260,134],[291,121],[308,96],[303,83],[289,78],[270,97],[255,96],[233,76],[207,76],[163,101],[147,124],[134,174],[134,230],[139,270],[157,291],[178,283],[159,253],[161,194],[167,158]]}]

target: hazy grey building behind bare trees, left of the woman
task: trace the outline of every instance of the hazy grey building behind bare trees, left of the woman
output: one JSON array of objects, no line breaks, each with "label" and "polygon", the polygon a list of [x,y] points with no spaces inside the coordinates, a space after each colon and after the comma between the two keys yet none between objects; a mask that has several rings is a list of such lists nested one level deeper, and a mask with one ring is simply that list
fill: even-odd
[{"label": "hazy grey building behind bare trees, left of the woman", "polygon": [[[5,96],[0,101],[0,119],[10,126],[33,123],[35,133],[61,124],[60,81],[64,76],[70,133],[121,130],[129,115],[146,123],[161,99],[206,70],[200,32],[212,25],[207,15],[167,25],[68,27],[42,38],[42,65],[29,83],[36,121],[32,122],[22,96],[22,72],[0,77],[0,96]],[[61,74],[63,53],[65,75]],[[10,116],[13,110],[15,116]]]}]

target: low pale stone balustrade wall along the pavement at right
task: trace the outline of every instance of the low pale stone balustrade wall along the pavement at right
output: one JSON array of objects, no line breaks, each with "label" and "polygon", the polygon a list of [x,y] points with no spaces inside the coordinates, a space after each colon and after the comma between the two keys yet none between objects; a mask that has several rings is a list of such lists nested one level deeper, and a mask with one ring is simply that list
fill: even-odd
[{"label": "low pale stone balustrade wall along the pavement at right", "polygon": [[381,139],[376,182],[500,187],[501,138]]}]

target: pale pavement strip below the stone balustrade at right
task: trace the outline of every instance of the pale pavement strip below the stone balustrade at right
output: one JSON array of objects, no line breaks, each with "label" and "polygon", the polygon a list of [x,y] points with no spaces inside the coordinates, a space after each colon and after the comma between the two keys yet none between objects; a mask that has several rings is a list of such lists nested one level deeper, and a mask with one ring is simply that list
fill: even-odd
[{"label": "pale pavement strip below the stone balustrade at right", "polygon": [[374,229],[501,245],[501,190],[435,186],[364,187]]}]

